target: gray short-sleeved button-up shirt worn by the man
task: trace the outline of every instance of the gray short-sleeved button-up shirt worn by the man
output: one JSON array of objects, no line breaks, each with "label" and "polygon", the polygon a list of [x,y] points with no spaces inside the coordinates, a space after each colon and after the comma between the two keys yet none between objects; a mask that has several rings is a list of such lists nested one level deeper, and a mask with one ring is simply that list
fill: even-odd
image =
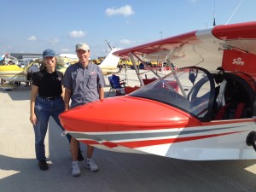
[{"label": "gray short-sleeved button-up shirt worn by the man", "polygon": [[105,86],[102,69],[89,63],[83,67],[79,62],[67,67],[62,84],[71,90],[71,108],[99,99],[98,88]]}]

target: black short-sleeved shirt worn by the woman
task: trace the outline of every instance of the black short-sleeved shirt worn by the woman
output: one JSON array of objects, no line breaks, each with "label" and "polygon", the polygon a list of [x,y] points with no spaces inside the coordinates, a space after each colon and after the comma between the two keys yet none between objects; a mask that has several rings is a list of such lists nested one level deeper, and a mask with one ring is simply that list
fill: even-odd
[{"label": "black short-sleeved shirt worn by the woman", "polygon": [[48,73],[46,68],[34,73],[32,84],[38,86],[38,96],[50,97],[61,96],[61,80],[63,74],[59,71]]}]

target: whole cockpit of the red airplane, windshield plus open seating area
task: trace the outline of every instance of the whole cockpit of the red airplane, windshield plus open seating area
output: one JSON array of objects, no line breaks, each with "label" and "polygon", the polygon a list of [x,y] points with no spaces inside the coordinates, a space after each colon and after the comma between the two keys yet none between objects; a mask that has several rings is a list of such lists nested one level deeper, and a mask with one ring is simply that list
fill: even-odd
[{"label": "whole cockpit of the red airplane, windshield plus open seating area", "polygon": [[148,98],[178,108],[201,122],[253,117],[255,81],[246,73],[209,72],[184,67],[136,90],[130,96]]}]

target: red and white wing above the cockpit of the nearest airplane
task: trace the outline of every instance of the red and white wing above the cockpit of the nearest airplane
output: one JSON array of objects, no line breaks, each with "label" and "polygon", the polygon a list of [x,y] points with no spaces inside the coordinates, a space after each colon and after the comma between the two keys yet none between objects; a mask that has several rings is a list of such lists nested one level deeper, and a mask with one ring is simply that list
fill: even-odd
[{"label": "red and white wing above the cockpit of the nearest airplane", "polygon": [[[187,32],[129,49],[118,50],[113,55],[119,57],[137,55],[142,60],[149,59],[158,62],[169,60],[176,67],[196,66],[215,70],[217,67],[225,66],[226,70],[229,70],[232,67],[241,66],[237,63],[233,66],[231,64],[226,66],[226,61],[234,60],[234,58],[230,58],[230,53],[234,51],[236,51],[236,55],[239,52],[249,56],[256,55],[255,21]],[[241,60],[239,58],[237,57],[238,60]]]}]

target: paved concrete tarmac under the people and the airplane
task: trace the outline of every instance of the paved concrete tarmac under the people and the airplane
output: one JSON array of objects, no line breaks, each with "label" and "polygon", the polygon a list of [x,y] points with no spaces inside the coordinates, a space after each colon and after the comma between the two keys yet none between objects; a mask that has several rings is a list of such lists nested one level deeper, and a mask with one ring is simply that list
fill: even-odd
[{"label": "paved concrete tarmac under the people and the airplane", "polygon": [[[105,90],[108,93],[109,87]],[[100,171],[82,167],[82,175],[72,177],[67,138],[61,137],[53,119],[45,139],[49,170],[40,171],[29,122],[30,91],[24,85],[12,91],[0,90],[1,192],[256,191],[256,160],[188,161],[96,148],[94,158]],[[86,151],[84,144],[82,150]]]}]

